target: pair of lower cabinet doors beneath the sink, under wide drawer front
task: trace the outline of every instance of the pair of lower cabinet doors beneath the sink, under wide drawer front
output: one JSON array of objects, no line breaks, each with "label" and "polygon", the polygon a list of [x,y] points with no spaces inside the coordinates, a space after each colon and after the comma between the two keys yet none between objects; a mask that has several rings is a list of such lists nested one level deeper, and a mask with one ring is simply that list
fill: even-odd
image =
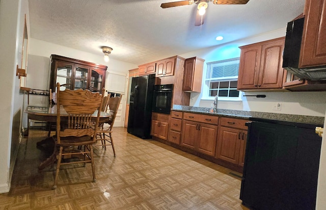
[{"label": "pair of lower cabinet doors beneath the sink, under wide drawer front", "polygon": [[184,120],[181,145],[214,156],[218,126]]}]

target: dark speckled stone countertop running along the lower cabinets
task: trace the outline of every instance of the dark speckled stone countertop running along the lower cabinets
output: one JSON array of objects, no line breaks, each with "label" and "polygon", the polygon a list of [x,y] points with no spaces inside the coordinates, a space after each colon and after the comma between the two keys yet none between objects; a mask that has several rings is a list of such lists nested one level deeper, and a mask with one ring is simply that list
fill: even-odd
[{"label": "dark speckled stone countertop running along the lower cabinets", "polygon": [[181,106],[181,105],[173,105],[172,111],[218,115],[221,117],[234,117],[234,118],[242,118],[242,119],[262,118],[262,119],[281,120],[287,122],[300,122],[300,123],[309,123],[309,124],[317,124],[317,125],[324,124],[324,117],[306,116],[306,115],[251,112],[251,111],[226,110],[226,109],[218,109],[216,113],[212,113],[209,112],[209,108],[189,107],[189,106]]}]

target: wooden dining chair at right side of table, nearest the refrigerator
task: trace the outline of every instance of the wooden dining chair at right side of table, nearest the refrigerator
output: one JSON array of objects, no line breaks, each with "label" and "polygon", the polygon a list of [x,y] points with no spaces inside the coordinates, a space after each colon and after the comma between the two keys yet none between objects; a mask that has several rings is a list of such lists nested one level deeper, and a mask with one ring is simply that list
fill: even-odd
[{"label": "wooden dining chair at right side of table, nearest the refrigerator", "polygon": [[104,147],[104,150],[106,150],[106,146],[112,146],[113,149],[113,154],[116,156],[116,151],[114,149],[114,143],[113,143],[113,124],[115,122],[117,113],[118,113],[118,108],[120,105],[120,101],[122,98],[122,94],[120,96],[116,97],[110,97],[111,95],[108,95],[107,98],[107,103],[106,103],[106,109],[105,112],[110,113],[111,117],[109,120],[101,126],[99,126],[99,130],[96,135],[96,140],[101,140],[102,147]]}]

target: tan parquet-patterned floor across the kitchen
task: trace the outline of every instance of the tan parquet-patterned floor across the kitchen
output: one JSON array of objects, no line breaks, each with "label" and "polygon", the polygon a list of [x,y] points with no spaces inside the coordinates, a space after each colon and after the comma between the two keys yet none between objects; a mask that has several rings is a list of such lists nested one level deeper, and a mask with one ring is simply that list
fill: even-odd
[{"label": "tan parquet-patterned floor across the kitchen", "polygon": [[[36,142],[47,132],[31,130],[23,138],[9,193],[0,194],[0,209],[248,209],[239,200],[239,178],[222,166],[168,145],[143,140],[114,128],[111,147],[96,147],[97,182],[90,164],[39,171],[47,152]],[[233,172],[236,173],[236,172]]]}]

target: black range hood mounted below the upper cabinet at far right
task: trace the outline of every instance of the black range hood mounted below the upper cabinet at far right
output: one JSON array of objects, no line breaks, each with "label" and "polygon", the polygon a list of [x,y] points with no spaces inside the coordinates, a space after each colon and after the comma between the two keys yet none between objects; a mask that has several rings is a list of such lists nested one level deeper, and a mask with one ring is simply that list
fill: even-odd
[{"label": "black range hood mounted below the upper cabinet at far right", "polygon": [[287,23],[282,67],[299,78],[326,80],[326,65],[298,68],[304,21],[303,17]]}]

